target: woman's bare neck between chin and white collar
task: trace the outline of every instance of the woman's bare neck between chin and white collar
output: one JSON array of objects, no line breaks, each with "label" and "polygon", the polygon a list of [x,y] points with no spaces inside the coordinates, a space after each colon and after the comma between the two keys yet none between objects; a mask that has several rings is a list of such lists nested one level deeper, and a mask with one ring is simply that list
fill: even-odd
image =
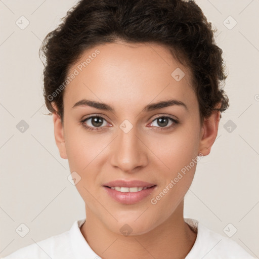
[{"label": "woman's bare neck between chin and white collar", "polygon": [[135,236],[111,232],[88,208],[87,219],[80,230],[90,247],[103,259],[185,258],[197,234],[184,221],[183,205],[184,201],[156,228]]}]

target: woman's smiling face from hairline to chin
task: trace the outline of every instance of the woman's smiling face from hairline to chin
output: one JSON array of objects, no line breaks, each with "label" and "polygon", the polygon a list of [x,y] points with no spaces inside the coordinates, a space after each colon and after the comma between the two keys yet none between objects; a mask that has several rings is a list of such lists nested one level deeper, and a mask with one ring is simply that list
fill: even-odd
[{"label": "woman's smiling face from hairline to chin", "polygon": [[[86,51],[68,76],[64,127],[56,123],[55,134],[87,218],[121,234],[172,219],[204,145],[189,70],[158,45],[112,43]],[[154,105],[169,100],[175,104]]]}]

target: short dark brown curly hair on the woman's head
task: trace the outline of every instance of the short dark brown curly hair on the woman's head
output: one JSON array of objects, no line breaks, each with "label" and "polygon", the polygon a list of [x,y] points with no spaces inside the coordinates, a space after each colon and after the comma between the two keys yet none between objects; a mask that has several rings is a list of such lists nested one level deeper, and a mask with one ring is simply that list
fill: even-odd
[{"label": "short dark brown curly hair on the woman's head", "polygon": [[[63,89],[70,67],[85,50],[116,40],[135,44],[152,42],[166,47],[192,73],[200,121],[213,110],[222,113],[229,107],[229,99],[221,87],[227,75],[214,32],[192,0],[79,1],[57,28],[47,34],[39,49],[39,55],[42,53],[46,59],[44,97],[51,112],[48,115],[57,112],[63,123]],[[58,85],[63,85],[59,92]]]}]

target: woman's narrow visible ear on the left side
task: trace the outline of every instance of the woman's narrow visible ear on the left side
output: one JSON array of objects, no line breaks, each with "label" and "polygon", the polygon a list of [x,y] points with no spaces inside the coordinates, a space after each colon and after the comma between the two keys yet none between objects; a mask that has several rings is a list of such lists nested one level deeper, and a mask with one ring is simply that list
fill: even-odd
[{"label": "woman's narrow visible ear on the left side", "polygon": [[55,141],[56,145],[59,149],[59,154],[62,158],[67,159],[67,152],[66,152],[66,146],[65,146],[65,139],[64,139],[64,127],[61,123],[61,118],[57,113],[57,106],[55,104],[52,104],[53,108],[55,109],[55,112],[53,112],[53,123],[54,123],[54,135],[55,135]]}]

